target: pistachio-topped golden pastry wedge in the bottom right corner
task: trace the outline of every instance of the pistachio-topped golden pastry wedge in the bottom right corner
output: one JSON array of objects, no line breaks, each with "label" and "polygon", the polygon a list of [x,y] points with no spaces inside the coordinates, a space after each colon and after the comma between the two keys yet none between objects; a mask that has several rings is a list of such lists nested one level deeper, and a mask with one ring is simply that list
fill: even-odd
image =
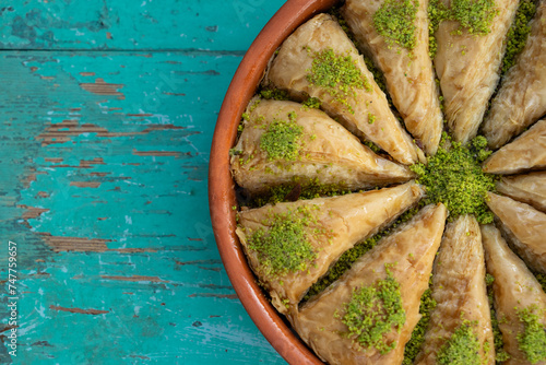
[{"label": "pistachio-topped golden pastry wedge in the bottom right corner", "polygon": [[495,278],[494,304],[503,350],[510,355],[503,364],[544,365],[546,342],[541,334],[546,331],[546,294],[495,226],[482,226],[482,235],[487,272]]}]

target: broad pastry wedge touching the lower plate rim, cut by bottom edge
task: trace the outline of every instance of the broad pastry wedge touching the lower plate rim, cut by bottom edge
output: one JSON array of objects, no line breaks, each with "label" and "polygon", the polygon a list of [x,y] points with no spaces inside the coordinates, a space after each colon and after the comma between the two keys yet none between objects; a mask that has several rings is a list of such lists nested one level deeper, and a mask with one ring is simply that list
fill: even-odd
[{"label": "broad pastry wedge touching the lower plate rim, cut by bottom edge", "polygon": [[425,207],[307,302],[293,318],[301,339],[331,365],[401,364],[446,216],[442,204]]}]

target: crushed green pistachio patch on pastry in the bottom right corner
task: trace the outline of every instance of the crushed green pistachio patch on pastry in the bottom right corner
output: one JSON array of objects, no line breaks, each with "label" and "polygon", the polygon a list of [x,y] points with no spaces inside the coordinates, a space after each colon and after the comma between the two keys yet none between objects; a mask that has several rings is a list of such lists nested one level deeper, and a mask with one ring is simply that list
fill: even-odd
[{"label": "crushed green pistachio patch on pastry in the bottom right corner", "polygon": [[518,343],[531,364],[546,360],[546,326],[541,323],[544,315],[545,310],[536,305],[518,310],[518,317],[525,327],[522,333],[518,333]]}]

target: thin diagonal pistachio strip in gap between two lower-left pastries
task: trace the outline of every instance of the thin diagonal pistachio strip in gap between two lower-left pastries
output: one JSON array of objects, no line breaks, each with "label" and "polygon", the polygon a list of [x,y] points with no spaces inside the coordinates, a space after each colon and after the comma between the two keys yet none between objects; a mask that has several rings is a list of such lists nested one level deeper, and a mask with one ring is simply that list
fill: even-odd
[{"label": "thin diagonal pistachio strip in gap between two lower-left pastries", "polygon": [[419,207],[412,208],[404,212],[399,219],[396,219],[391,225],[381,229],[376,235],[369,237],[355,245],[353,248],[346,250],[340,259],[335,262],[335,264],[330,268],[330,270],[322,276],[318,282],[316,282],[310,289],[309,292],[302,299],[302,303],[309,301],[312,296],[324,291],[330,284],[340,279],[345,271],[351,269],[353,263],[358,260],[364,254],[368,252],[370,249],[376,247],[378,242],[393,233],[401,224],[410,221],[417,212],[419,211]]}]

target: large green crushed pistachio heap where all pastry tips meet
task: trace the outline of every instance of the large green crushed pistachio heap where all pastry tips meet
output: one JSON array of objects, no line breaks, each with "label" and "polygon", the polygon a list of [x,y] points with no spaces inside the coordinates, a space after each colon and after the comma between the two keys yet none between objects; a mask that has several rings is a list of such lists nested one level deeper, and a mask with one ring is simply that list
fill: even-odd
[{"label": "large green crushed pistachio heap where all pastry tips meet", "polygon": [[417,174],[417,182],[425,186],[425,202],[442,202],[450,211],[450,221],[474,214],[482,224],[492,222],[485,199],[487,191],[495,190],[496,177],[484,174],[479,165],[479,158],[488,153],[484,141],[487,143],[483,137],[475,139],[466,148],[443,132],[440,148],[428,164],[410,166]]}]

